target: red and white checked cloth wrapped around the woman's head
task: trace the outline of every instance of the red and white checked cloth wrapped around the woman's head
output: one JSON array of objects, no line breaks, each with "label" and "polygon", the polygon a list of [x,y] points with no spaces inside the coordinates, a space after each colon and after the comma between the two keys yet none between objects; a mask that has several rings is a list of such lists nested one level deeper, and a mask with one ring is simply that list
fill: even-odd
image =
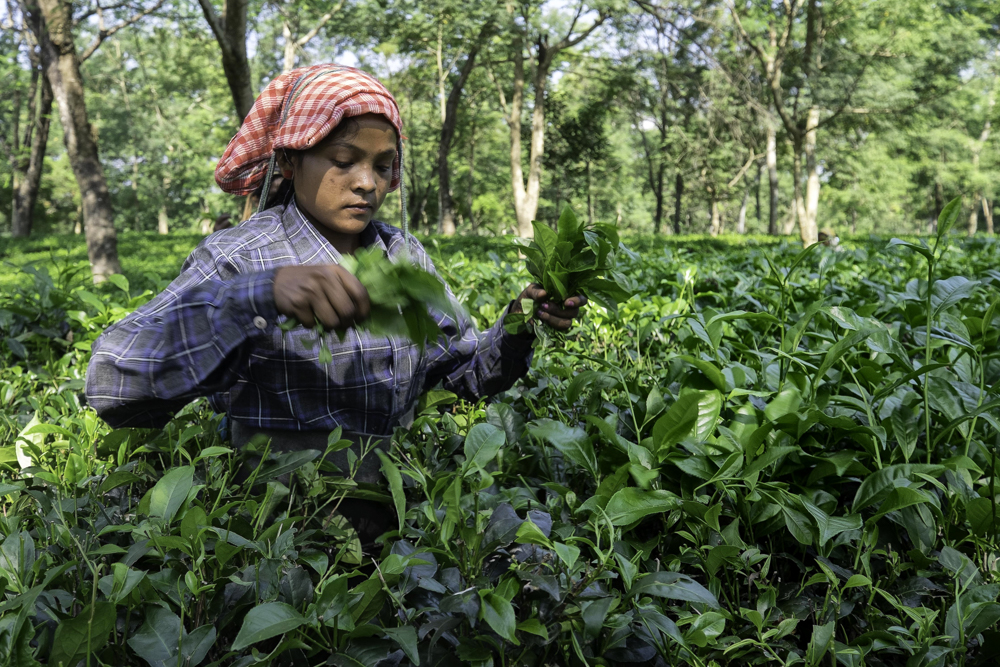
[{"label": "red and white checked cloth wrapped around the woman's head", "polygon": [[[215,182],[225,192],[251,194],[267,180],[276,150],[312,148],[344,118],[368,113],[385,116],[397,137],[403,136],[395,98],[370,74],[339,65],[286,72],[268,83],[254,102],[215,168]],[[402,151],[397,150],[390,191],[402,180],[401,160]]]}]

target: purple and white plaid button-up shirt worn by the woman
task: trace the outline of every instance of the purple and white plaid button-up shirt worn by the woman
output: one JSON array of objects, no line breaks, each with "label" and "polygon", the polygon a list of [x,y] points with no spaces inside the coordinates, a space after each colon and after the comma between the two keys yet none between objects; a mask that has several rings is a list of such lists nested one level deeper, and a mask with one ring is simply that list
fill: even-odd
[{"label": "purple and white plaid button-up shirt worn by the woman", "polygon": [[[405,252],[402,231],[383,222],[372,221],[361,241],[389,257]],[[411,256],[436,275],[412,237]],[[343,342],[327,335],[333,361],[321,364],[319,346],[308,344],[313,331],[278,327],[285,318],[274,305],[274,273],[339,260],[294,201],[212,234],[162,293],[94,342],[90,405],[115,427],[162,426],[210,396],[213,408],[250,426],[386,435],[438,382],[477,400],[527,372],[532,338],[506,333],[502,317],[480,333],[450,289],[461,314],[434,312],[444,335],[426,349],[350,329]]]}]

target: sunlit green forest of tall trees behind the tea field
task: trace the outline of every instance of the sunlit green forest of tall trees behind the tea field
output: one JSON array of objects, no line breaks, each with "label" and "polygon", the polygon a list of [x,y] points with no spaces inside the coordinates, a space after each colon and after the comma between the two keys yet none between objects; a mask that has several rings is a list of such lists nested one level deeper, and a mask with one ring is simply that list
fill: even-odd
[{"label": "sunlit green forest of tall trees behind the tea field", "polygon": [[0,234],[84,232],[95,273],[123,231],[238,219],[216,161],[320,62],[397,96],[418,231],[530,235],[571,204],[808,243],[931,231],[962,193],[993,232],[995,1],[4,0],[0,28]]}]

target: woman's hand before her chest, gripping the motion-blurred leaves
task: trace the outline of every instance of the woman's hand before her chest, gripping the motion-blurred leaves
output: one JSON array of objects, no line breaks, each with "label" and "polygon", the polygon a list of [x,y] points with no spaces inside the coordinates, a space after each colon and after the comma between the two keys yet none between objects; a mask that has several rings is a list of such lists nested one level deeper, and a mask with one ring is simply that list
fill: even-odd
[{"label": "woman's hand before her chest, gripping the motion-blurred leaves", "polygon": [[274,305],[304,327],[347,329],[368,319],[368,290],[336,264],[283,266],[274,273]]}]

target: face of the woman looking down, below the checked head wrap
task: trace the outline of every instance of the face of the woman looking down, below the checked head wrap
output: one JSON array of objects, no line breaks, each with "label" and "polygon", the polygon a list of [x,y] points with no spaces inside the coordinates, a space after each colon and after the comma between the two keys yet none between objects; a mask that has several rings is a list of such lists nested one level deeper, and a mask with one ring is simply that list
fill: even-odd
[{"label": "face of the woman looking down, below the checked head wrap", "polygon": [[384,116],[350,119],[357,132],[336,131],[314,147],[295,153],[290,169],[299,209],[324,235],[361,232],[382,205],[392,181],[396,130]]}]

